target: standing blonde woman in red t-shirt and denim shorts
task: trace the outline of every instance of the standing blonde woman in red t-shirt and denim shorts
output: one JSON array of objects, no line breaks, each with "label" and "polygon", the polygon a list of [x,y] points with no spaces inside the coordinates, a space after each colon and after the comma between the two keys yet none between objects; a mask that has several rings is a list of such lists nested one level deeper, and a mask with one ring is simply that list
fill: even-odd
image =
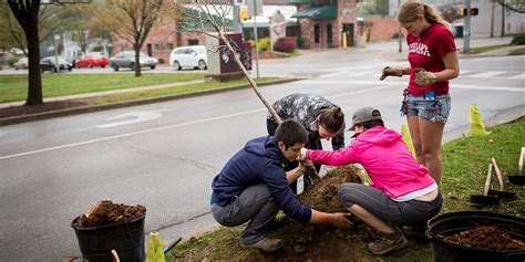
[{"label": "standing blonde woman in red t-shirt and denim shorts", "polygon": [[418,1],[403,3],[398,21],[408,31],[410,66],[387,66],[380,80],[410,75],[402,112],[406,115],[418,161],[440,182],[441,140],[451,108],[449,81],[460,74],[454,36],[450,24],[431,6]]}]

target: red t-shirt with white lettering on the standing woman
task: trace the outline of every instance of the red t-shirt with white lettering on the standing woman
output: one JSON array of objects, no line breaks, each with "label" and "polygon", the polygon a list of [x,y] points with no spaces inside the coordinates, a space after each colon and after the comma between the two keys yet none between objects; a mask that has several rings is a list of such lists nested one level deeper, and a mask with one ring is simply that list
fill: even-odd
[{"label": "red t-shirt with white lettering on the standing woman", "polygon": [[456,50],[451,31],[441,23],[432,23],[420,36],[409,32],[406,42],[409,44],[409,62],[412,67],[409,93],[423,95],[426,91],[434,91],[436,95],[446,95],[449,93],[449,81],[420,86],[414,82],[414,70],[425,69],[429,72],[441,72],[445,69],[442,61],[443,56]]}]

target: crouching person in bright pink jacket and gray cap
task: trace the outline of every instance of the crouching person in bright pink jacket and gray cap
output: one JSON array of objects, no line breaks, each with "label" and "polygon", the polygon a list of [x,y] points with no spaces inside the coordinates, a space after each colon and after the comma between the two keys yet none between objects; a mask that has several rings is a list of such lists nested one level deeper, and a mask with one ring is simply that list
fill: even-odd
[{"label": "crouching person in bright pink jacket and gray cap", "polygon": [[381,113],[361,107],[352,116],[354,139],[338,150],[302,148],[301,157],[317,164],[343,166],[361,164],[372,182],[343,184],[339,189],[342,205],[356,217],[378,230],[382,238],[369,243],[374,254],[385,254],[408,244],[403,233],[424,230],[437,214],[443,198],[429,169],[418,164],[402,136],[384,127]]}]

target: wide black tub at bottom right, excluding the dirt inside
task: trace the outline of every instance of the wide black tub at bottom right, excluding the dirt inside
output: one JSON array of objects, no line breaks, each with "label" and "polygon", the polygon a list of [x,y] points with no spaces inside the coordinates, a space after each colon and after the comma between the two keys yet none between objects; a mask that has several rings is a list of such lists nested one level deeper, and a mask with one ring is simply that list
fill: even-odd
[{"label": "wide black tub at bottom right, excluding the dirt inside", "polygon": [[494,226],[498,230],[525,241],[525,219],[496,212],[461,211],[440,214],[429,221],[426,235],[432,243],[435,262],[441,261],[519,261],[525,260],[525,250],[494,251],[470,248],[443,240],[443,237],[471,230],[478,226]]}]

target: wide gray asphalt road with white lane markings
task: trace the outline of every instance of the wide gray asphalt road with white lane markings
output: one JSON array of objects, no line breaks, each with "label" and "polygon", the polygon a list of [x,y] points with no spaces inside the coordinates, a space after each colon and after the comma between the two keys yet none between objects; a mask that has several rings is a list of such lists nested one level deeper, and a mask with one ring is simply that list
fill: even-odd
[{"label": "wide gray asphalt road with white lane markings", "polygon": [[[408,80],[380,82],[378,72],[405,62],[374,56],[358,63],[352,54],[332,54],[268,62],[268,71],[310,78],[262,93],[270,102],[317,93],[340,105],[347,122],[356,108],[374,106],[400,130]],[[525,115],[523,55],[463,59],[460,65],[445,139],[467,132],[471,103],[486,120]],[[70,223],[103,199],[144,205],[146,232],[159,230],[167,242],[216,226],[210,181],[246,140],[266,134],[265,117],[254,92],[241,90],[0,127],[0,261],[80,254]]]}]

